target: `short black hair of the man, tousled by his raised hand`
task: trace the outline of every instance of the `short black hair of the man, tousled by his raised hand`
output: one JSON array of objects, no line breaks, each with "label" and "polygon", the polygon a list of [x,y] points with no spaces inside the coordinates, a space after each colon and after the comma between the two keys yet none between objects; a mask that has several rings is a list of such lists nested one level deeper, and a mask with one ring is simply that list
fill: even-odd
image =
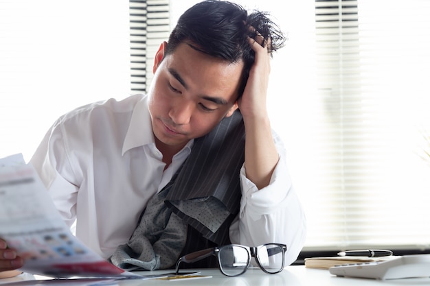
[{"label": "short black hair of the man, tousled by his raised hand", "polygon": [[[286,38],[278,25],[269,19],[268,12],[254,10],[250,14],[241,5],[222,0],[205,0],[186,10],[172,30],[165,56],[172,53],[179,44],[188,43],[194,49],[228,62],[245,64],[242,73],[239,96],[249,76],[255,53],[248,42],[248,36],[262,35],[269,43],[268,52],[284,46]],[[270,39],[267,42],[267,39]]]}]

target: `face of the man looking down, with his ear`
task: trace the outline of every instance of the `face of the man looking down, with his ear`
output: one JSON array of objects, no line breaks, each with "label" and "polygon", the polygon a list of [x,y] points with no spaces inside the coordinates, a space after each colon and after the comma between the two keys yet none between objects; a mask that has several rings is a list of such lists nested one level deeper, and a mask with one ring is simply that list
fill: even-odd
[{"label": "face of the man looking down, with his ear", "polygon": [[149,110],[157,147],[177,152],[236,110],[243,64],[220,61],[186,43],[163,59],[166,45],[155,56]]}]

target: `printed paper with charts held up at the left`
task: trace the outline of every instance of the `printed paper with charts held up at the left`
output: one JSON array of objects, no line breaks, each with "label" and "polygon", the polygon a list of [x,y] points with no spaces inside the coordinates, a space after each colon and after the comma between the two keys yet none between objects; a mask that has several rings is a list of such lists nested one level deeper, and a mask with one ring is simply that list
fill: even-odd
[{"label": "printed paper with charts held up at the left", "polygon": [[71,233],[21,154],[0,159],[0,237],[23,257],[23,272],[54,277],[137,276],[112,265]]}]

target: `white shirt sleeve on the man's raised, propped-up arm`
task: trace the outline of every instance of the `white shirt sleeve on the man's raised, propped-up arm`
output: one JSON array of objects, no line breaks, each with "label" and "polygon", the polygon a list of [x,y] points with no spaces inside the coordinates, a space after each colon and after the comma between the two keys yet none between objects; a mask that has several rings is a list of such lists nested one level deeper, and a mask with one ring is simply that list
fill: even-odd
[{"label": "white shirt sleeve on the man's raised, propped-up arm", "polygon": [[260,246],[264,243],[284,243],[286,265],[293,263],[306,239],[306,216],[295,193],[286,167],[285,150],[277,134],[273,134],[280,159],[270,184],[258,190],[240,170],[242,199],[238,217],[230,226],[231,243]]}]

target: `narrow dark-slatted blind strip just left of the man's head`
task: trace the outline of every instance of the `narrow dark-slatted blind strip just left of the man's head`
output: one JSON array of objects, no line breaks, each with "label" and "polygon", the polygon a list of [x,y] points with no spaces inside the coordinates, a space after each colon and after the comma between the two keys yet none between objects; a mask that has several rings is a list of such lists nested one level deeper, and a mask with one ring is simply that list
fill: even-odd
[{"label": "narrow dark-slatted blind strip just left of the man's head", "polygon": [[169,0],[130,0],[131,90],[146,93],[157,49],[170,32]]}]

